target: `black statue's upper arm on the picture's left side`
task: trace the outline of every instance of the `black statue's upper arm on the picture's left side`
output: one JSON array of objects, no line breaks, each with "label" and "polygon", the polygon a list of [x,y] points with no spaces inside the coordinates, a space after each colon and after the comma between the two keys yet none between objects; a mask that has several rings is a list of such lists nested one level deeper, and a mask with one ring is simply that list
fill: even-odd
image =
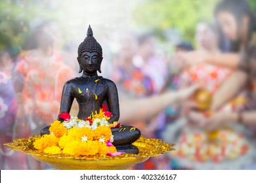
[{"label": "black statue's upper arm on the picture's left side", "polygon": [[[72,84],[70,82],[66,82],[64,85],[61,101],[60,101],[60,114],[63,112],[70,113],[70,108],[72,107],[72,103],[74,101],[74,96],[72,96]],[[58,118],[58,120],[60,120]]]}]

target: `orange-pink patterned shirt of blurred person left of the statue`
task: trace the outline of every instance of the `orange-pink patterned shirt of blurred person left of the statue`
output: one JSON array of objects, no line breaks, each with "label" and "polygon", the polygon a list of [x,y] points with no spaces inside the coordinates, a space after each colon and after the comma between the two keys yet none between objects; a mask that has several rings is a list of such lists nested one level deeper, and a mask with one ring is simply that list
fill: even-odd
[{"label": "orange-pink patterned shirt of blurred person left of the statue", "polygon": [[59,57],[40,57],[35,50],[22,52],[16,71],[24,76],[22,94],[26,100],[26,114],[39,129],[56,120],[64,83],[73,71],[61,63]]}]

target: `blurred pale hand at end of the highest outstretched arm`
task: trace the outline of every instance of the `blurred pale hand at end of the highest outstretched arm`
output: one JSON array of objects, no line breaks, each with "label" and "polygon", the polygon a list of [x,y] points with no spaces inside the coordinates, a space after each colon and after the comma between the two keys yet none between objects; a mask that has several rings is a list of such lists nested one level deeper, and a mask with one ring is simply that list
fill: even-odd
[{"label": "blurred pale hand at end of the highest outstretched arm", "polygon": [[194,51],[182,54],[179,57],[184,61],[186,67],[202,64],[206,61],[208,53],[205,51]]}]

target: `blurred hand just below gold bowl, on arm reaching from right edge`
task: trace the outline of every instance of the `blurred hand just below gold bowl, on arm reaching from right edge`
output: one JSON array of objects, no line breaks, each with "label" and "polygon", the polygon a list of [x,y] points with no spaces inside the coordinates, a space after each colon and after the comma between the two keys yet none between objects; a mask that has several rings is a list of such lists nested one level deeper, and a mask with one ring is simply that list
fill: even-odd
[{"label": "blurred hand just below gold bowl, on arm reaching from right edge", "polygon": [[204,127],[205,123],[207,122],[207,118],[202,112],[190,110],[186,117],[188,118],[188,124],[193,127]]}]

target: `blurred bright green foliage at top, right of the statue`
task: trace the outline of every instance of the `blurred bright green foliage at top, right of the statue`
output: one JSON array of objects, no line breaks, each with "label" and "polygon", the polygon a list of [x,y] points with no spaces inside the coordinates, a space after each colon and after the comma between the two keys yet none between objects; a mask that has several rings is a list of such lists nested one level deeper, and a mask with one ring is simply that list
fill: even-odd
[{"label": "blurred bright green foliage at top, right of the statue", "polygon": [[[219,0],[144,0],[135,8],[137,25],[155,30],[177,28],[184,39],[194,39],[196,24],[213,22],[213,10]],[[247,0],[256,12],[256,1]]]}]

